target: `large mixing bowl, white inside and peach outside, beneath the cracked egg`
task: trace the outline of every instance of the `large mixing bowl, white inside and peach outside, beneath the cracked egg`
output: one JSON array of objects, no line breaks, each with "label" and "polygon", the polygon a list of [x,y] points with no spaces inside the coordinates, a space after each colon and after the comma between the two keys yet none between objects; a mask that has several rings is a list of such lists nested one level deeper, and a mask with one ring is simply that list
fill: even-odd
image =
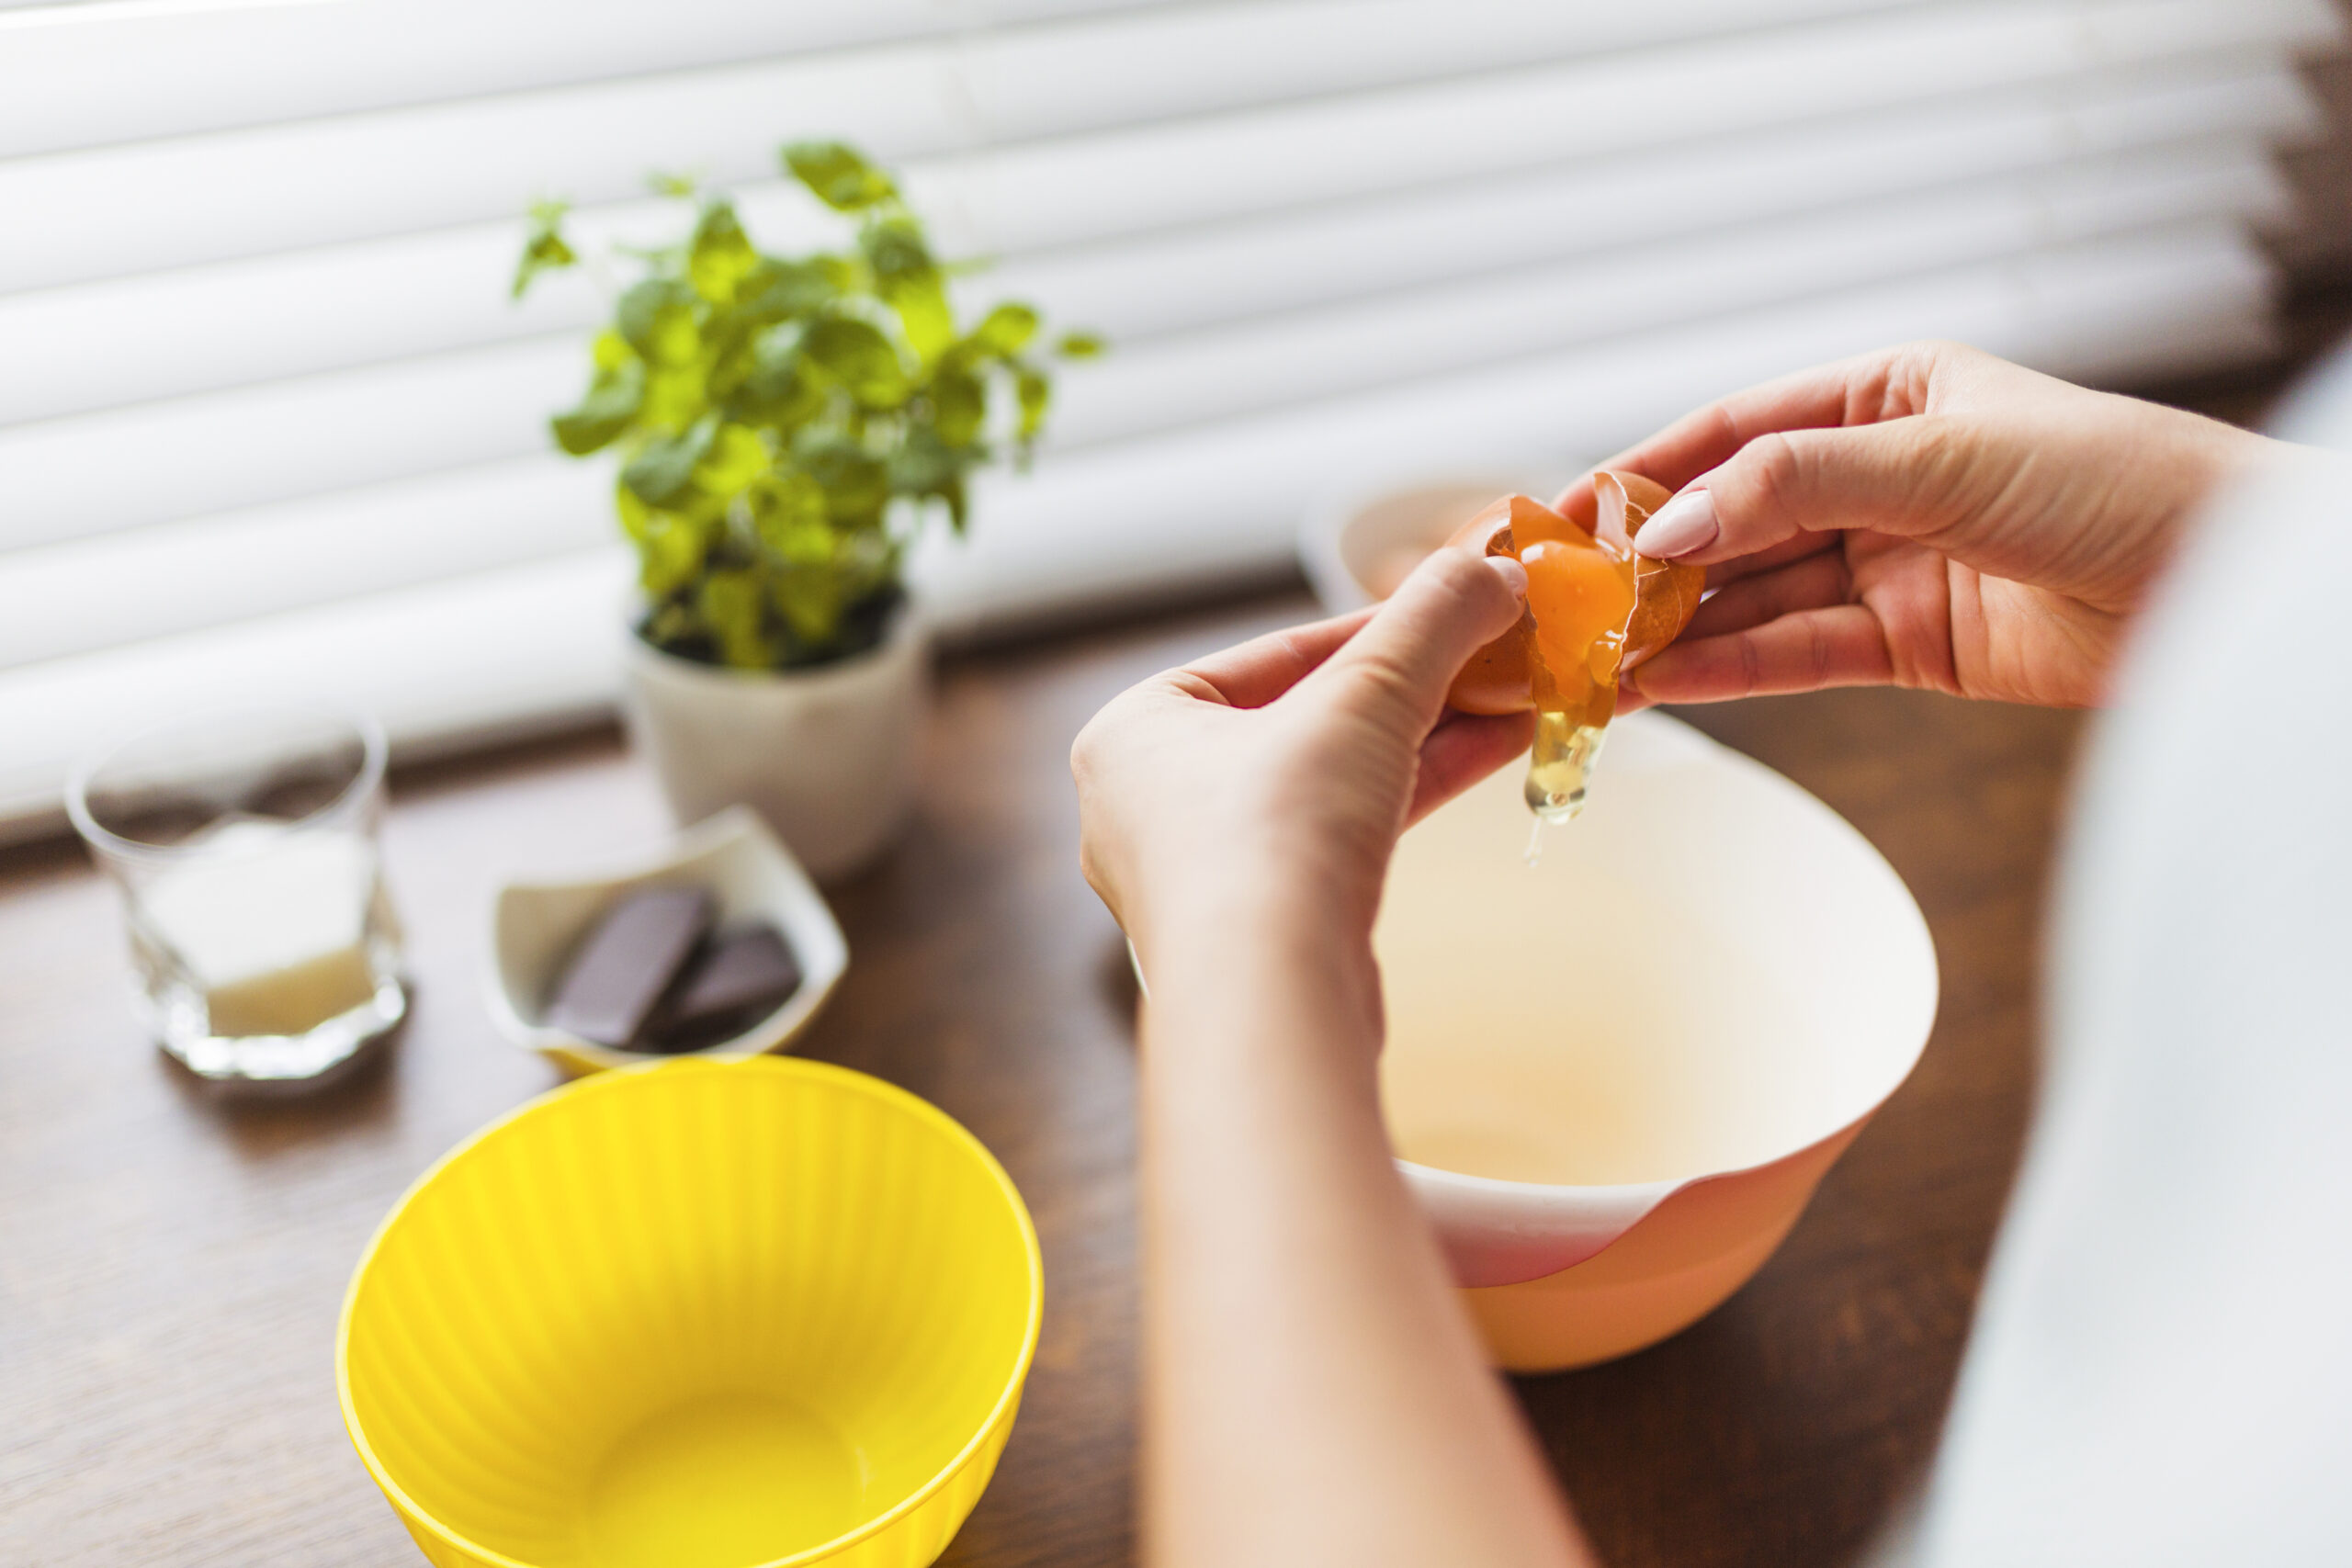
[{"label": "large mixing bowl, white inside and peach outside, beneath the cracked egg", "polygon": [[1522,860],[1505,766],[1404,835],[1383,1107],[1496,1361],[1698,1321],[1797,1222],[1936,1020],[1936,947],[1844,818],[1658,712]]}]

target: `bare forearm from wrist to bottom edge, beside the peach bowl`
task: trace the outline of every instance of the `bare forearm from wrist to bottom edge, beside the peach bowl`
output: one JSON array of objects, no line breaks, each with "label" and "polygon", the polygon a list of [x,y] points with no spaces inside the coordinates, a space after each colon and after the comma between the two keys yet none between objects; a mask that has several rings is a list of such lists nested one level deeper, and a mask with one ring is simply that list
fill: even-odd
[{"label": "bare forearm from wrist to bottom edge, beside the peach bowl", "polygon": [[1319,917],[1178,922],[1150,952],[1148,1554],[1588,1563],[1390,1161],[1371,954]]}]

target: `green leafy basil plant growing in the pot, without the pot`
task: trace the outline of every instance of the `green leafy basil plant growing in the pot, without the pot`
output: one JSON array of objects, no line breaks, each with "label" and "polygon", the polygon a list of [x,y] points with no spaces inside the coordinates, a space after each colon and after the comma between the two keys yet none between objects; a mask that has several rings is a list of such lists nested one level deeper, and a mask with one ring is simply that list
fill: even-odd
[{"label": "green leafy basil plant growing in the pot, without the pot", "polygon": [[[955,320],[948,263],[891,176],[835,141],[783,148],[826,207],[856,221],[840,254],[762,254],[724,197],[656,181],[696,205],[691,235],[630,252],[642,277],[595,339],[595,376],[553,421],[574,454],[621,454],[616,503],[637,548],[656,649],[739,670],[790,670],[875,646],[906,597],[901,567],[924,520],[967,522],[967,477],[1009,440],[1028,458],[1051,378],[1040,320],[1004,303]],[[579,261],[564,209],[532,209],[515,296]],[[1103,346],[1065,334],[1051,355]],[[990,423],[1007,388],[1009,430]]]}]

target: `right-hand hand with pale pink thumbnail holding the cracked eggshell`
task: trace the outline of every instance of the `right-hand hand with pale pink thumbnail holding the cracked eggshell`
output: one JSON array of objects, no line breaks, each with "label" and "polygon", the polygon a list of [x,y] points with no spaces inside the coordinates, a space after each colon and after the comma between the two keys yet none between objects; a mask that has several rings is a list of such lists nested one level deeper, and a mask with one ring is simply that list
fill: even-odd
[{"label": "right-hand hand with pale pink thumbnail holding the cracked eggshell", "polygon": [[2098,703],[2185,520],[2274,447],[1957,343],[1769,381],[1604,465],[1677,489],[1639,550],[1717,590],[1632,682],[1658,703],[1884,682]]}]

